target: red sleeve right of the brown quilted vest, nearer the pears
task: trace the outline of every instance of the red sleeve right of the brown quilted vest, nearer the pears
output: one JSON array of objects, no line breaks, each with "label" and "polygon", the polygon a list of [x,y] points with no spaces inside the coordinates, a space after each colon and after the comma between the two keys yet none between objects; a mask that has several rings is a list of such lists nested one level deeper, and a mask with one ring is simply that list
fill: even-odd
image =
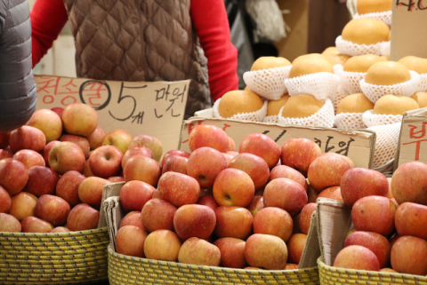
[{"label": "red sleeve right of the brown quilted vest, nearer the pears", "polygon": [[238,50],[231,44],[223,0],[191,0],[191,20],[207,58],[209,85],[214,100],[238,90]]}]

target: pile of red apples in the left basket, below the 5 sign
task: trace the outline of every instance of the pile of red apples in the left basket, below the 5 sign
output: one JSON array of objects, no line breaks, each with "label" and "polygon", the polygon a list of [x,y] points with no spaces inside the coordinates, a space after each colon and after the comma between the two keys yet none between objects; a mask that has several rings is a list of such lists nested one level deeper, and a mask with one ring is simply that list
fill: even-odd
[{"label": "pile of red apples in the left basket, below the 5 sign", "polygon": [[[151,147],[151,148],[149,148]],[[125,181],[134,154],[158,166],[158,139],[124,130],[105,133],[93,107],[36,111],[0,133],[0,232],[64,233],[98,226],[102,189]]]}]

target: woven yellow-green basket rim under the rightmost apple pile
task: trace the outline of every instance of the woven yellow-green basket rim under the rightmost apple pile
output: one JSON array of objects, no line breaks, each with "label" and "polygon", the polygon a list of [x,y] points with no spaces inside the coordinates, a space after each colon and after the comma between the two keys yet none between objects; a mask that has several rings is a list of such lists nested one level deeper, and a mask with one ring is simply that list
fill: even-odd
[{"label": "woven yellow-green basket rim under the rightmost apple pile", "polygon": [[342,269],[328,266],[318,258],[318,274],[320,284],[322,285],[340,285],[340,284],[418,284],[427,285],[427,277],[400,274],[400,273],[381,273],[375,271]]}]

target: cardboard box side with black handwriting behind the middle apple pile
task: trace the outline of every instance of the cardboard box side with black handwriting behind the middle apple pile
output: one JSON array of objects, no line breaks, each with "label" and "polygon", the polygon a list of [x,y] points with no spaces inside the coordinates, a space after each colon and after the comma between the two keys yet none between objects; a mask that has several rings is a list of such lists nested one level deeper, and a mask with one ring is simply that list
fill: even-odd
[{"label": "cardboard box side with black handwriting behind the middle apple pile", "polygon": [[255,123],[238,120],[221,120],[212,118],[212,109],[196,113],[185,121],[181,132],[180,149],[189,152],[189,131],[198,124],[214,124],[224,130],[236,146],[251,133],[263,133],[282,146],[287,139],[311,139],[320,146],[323,153],[334,152],[350,157],[356,167],[371,169],[375,153],[375,131],[341,130],[319,127],[305,127],[276,123]]}]

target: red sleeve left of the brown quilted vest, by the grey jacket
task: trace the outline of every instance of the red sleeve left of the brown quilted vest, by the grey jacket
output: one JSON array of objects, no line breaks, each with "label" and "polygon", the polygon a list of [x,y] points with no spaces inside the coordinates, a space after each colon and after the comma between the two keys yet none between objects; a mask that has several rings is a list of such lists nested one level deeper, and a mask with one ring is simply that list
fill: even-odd
[{"label": "red sleeve left of the brown quilted vest, by the grey jacket", "polygon": [[30,13],[33,67],[58,38],[68,20],[63,0],[36,0]]}]

